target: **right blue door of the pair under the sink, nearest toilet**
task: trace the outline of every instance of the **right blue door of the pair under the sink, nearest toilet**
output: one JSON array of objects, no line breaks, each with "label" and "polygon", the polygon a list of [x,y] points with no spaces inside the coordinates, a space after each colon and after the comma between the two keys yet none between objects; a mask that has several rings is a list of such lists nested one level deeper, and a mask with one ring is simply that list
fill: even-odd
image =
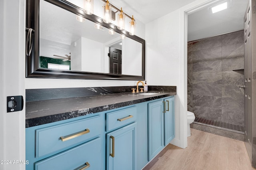
[{"label": "right blue door of the pair under the sink, nearest toilet", "polygon": [[164,146],[175,136],[174,97],[164,99],[166,111],[164,113]]}]

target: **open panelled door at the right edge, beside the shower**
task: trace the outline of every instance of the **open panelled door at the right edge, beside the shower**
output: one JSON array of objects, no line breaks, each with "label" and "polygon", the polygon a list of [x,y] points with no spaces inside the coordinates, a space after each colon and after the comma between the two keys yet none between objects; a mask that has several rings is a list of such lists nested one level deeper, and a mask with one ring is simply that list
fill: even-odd
[{"label": "open panelled door at the right edge, beside the shower", "polygon": [[256,167],[256,15],[255,1],[249,0],[244,16],[244,124],[245,145]]}]

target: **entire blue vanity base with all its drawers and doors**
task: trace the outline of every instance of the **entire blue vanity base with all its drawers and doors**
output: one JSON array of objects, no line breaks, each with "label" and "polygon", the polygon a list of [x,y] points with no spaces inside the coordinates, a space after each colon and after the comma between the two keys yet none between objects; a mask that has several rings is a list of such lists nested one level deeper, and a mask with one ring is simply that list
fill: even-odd
[{"label": "entire blue vanity base with all its drawers and doors", "polygon": [[26,128],[26,170],[142,169],[174,138],[174,97]]}]

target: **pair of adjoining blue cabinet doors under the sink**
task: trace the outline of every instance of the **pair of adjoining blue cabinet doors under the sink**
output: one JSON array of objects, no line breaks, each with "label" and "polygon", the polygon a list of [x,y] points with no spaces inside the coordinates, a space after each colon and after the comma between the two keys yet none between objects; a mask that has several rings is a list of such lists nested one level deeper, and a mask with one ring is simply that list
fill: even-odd
[{"label": "pair of adjoining blue cabinet doors under the sink", "polygon": [[174,138],[174,97],[148,103],[148,161]]}]

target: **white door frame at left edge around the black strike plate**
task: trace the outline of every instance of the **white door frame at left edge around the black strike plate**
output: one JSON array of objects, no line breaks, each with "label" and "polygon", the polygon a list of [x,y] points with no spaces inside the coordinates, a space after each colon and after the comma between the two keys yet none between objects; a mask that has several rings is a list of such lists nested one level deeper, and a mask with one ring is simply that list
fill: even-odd
[{"label": "white door frame at left edge around the black strike plate", "polygon": [[0,160],[11,160],[0,169],[25,170],[25,164],[13,162],[26,161],[25,107],[6,109],[7,96],[25,97],[25,1],[0,0],[0,20]]}]

